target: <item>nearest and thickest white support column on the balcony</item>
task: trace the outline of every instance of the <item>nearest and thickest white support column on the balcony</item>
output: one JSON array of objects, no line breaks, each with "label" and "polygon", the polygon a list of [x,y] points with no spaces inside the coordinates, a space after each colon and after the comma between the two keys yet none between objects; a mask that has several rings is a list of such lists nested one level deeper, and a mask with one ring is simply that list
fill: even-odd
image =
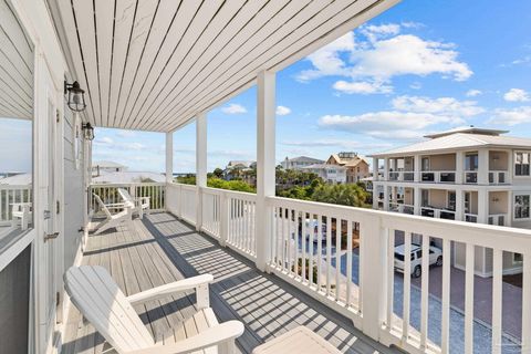
[{"label": "nearest and thickest white support column on the balcony", "polygon": [[273,214],[267,197],[274,196],[275,164],[275,74],[262,71],[258,74],[257,100],[257,268],[266,271],[271,257]]}]

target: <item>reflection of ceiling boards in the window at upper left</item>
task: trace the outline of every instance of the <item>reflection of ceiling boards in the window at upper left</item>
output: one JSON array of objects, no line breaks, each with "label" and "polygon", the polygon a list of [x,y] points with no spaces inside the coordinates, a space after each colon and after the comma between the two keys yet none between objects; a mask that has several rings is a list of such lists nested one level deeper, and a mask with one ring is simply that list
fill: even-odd
[{"label": "reflection of ceiling boards in the window at upper left", "polygon": [[0,117],[33,117],[33,45],[13,9],[0,0]]}]

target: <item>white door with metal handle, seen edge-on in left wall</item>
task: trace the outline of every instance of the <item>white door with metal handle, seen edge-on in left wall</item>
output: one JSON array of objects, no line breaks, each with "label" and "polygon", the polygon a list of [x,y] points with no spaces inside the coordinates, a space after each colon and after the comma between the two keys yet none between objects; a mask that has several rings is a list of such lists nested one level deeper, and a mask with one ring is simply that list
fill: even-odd
[{"label": "white door with metal handle, seen edge-on in left wall", "polygon": [[59,299],[60,242],[58,178],[58,142],[61,137],[58,123],[58,90],[44,63],[40,65],[43,91],[39,97],[38,113],[38,178],[39,232],[37,239],[37,296],[38,296],[38,353],[49,353],[53,346]]}]

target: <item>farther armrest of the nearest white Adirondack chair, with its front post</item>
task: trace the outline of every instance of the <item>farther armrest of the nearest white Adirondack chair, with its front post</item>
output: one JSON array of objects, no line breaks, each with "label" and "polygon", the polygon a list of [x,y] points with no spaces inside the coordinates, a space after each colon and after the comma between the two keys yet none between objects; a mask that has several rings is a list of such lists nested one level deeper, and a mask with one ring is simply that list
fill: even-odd
[{"label": "farther armrest of the nearest white Adirondack chair, with its front post", "polygon": [[[175,293],[196,289],[196,291],[198,292],[197,298],[198,298],[198,304],[199,304],[200,302],[199,289],[201,288],[202,290],[206,289],[206,296],[208,301],[208,283],[212,281],[214,281],[214,277],[211,274],[201,274],[197,277],[191,277],[191,278],[183,279],[169,284],[160,285],[157,288],[153,288],[153,289],[133,294],[131,296],[127,296],[127,301],[129,301],[132,304],[137,304],[140,302],[158,300],[158,299],[167,298]],[[201,294],[201,295],[202,298],[205,296],[205,294]],[[199,308],[205,308],[205,306],[208,308],[208,304],[205,305],[205,303],[201,302]]]}]

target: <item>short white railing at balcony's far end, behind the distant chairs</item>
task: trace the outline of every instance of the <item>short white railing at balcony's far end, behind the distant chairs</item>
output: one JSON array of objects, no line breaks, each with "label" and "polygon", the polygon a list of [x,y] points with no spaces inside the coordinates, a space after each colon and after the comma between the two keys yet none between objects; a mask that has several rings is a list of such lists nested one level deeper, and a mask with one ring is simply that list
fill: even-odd
[{"label": "short white railing at balcony's far end, behind the distant chairs", "polygon": [[118,194],[118,188],[124,188],[133,198],[149,197],[149,210],[159,211],[166,209],[166,184],[165,183],[138,183],[138,184],[92,184],[91,185],[91,210],[94,214],[100,207],[94,194],[100,196],[104,204],[117,205],[124,202]]}]

